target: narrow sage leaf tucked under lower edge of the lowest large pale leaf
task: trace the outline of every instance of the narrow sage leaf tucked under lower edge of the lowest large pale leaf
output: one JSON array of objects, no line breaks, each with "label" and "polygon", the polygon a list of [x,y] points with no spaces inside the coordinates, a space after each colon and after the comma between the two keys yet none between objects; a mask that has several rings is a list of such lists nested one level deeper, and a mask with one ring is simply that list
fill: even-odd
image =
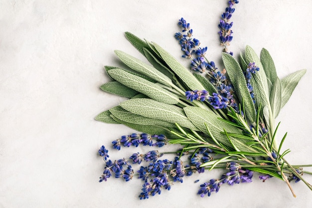
[{"label": "narrow sage leaf tucked under lower edge of the lowest large pale leaf", "polygon": [[140,125],[154,125],[154,126],[164,126],[174,128],[175,125],[166,121],[162,121],[155,118],[148,118],[144,116],[140,116],[138,114],[131,113],[120,106],[116,106],[114,108],[109,109],[109,111],[118,119],[132,123],[132,124],[140,124]]}]

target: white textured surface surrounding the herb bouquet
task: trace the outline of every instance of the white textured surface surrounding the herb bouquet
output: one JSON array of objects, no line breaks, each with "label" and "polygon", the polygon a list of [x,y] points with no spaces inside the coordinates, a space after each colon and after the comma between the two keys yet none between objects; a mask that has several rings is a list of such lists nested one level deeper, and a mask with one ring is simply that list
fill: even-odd
[{"label": "white textured surface surrounding the herb bouquet", "polygon": [[[109,80],[103,66],[116,65],[113,50],[142,58],[124,32],[155,41],[183,61],[173,35],[184,17],[208,46],[208,59],[220,65],[217,24],[226,6],[226,0],[1,0],[0,208],[311,207],[303,183],[294,184],[294,199],[282,181],[256,177],[201,199],[199,184],[216,172],[193,175],[145,201],[137,197],[138,180],[98,183],[104,166],[98,148],[132,132],[94,120],[123,100],[99,89]],[[230,50],[236,56],[246,44],[258,54],[265,47],[280,77],[308,69],[277,121],[281,136],[288,131],[289,161],[311,164],[312,1],[240,0],[235,7]],[[111,151],[111,159],[129,151],[141,149]]]}]

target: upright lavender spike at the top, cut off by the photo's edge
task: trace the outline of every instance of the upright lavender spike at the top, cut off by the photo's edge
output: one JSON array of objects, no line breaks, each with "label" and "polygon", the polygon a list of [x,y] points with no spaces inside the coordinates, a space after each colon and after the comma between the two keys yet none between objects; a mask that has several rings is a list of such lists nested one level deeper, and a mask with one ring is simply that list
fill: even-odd
[{"label": "upright lavender spike at the top, cut off by the photo's edge", "polygon": [[[233,5],[238,3],[238,0],[229,0],[228,4],[229,6],[225,8],[225,12],[222,13],[219,23],[219,29],[218,32],[220,35],[220,42],[221,45],[224,46],[224,52],[227,52],[227,46],[230,45],[230,42],[233,39],[232,36],[232,26],[233,22],[229,22],[230,18],[232,17],[232,13],[235,11],[235,8],[233,8]],[[231,55],[233,55],[232,52],[230,52]]]}]

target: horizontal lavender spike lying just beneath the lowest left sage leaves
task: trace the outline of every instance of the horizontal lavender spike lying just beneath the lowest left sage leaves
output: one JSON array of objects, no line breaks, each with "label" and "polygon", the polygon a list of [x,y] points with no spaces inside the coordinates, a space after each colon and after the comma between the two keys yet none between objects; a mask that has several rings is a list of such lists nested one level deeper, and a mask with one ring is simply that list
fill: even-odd
[{"label": "horizontal lavender spike lying just beneath the lowest left sage leaves", "polygon": [[121,139],[114,140],[112,142],[113,148],[120,150],[121,146],[130,147],[135,146],[138,147],[140,144],[143,146],[157,146],[162,147],[167,144],[167,138],[164,135],[150,135],[146,133],[142,134],[131,134],[122,136]]}]

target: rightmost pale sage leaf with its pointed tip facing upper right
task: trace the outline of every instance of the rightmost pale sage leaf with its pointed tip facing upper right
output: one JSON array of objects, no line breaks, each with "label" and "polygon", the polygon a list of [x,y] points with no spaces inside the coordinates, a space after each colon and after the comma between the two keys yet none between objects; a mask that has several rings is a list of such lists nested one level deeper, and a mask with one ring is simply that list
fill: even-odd
[{"label": "rightmost pale sage leaf with its pointed tip facing upper right", "polygon": [[296,71],[281,80],[282,83],[282,108],[287,103],[295,87],[297,86],[300,79],[305,75],[307,69]]}]

